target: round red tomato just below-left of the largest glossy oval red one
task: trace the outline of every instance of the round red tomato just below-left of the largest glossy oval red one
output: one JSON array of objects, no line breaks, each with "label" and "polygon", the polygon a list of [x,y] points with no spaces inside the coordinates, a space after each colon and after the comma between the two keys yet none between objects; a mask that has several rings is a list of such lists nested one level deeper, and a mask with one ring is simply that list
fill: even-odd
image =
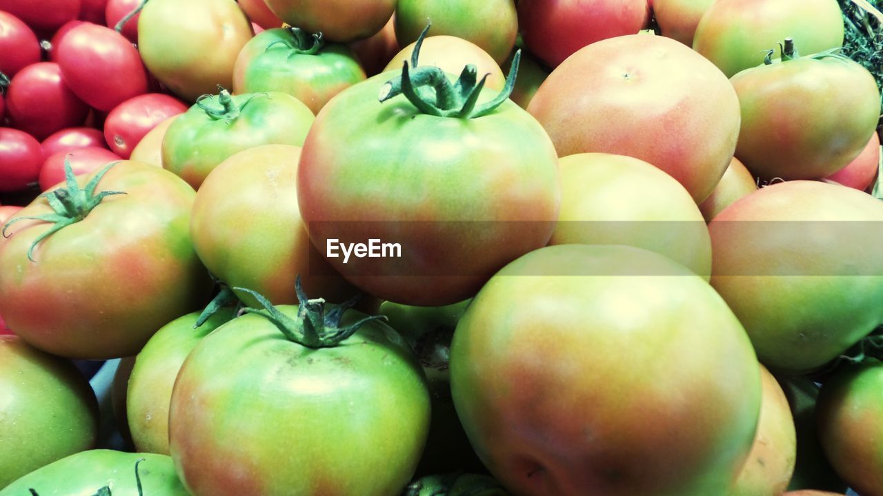
[{"label": "round red tomato just below-left of the largest glossy oval red one", "polygon": [[28,65],[12,78],[6,92],[10,124],[36,139],[83,124],[89,107],[64,84],[54,62]]}]

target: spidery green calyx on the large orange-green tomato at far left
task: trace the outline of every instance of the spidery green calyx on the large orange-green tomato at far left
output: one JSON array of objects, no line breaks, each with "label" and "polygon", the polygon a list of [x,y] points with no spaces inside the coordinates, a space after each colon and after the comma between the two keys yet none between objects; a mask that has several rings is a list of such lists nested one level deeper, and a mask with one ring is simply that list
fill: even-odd
[{"label": "spidery green calyx on the large orange-green tomato at far left", "polygon": [[70,159],[65,158],[64,187],[57,188],[51,192],[44,192],[40,195],[40,198],[45,198],[46,201],[49,202],[49,207],[52,207],[53,213],[16,217],[11,221],[6,222],[2,231],[3,236],[9,237],[9,235],[6,234],[6,229],[9,229],[12,224],[20,221],[32,220],[54,224],[50,229],[34,239],[34,243],[32,243],[31,247],[27,250],[27,259],[33,262],[34,248],[36,248],[37,244],[40,244],[42,240],[52,236],[59,230],[64,229],[71,224],[75,224],[85,219],[87,215],[92,212],[92,209],[98,207],[106,197],[110,195],[125,194],[125,192],[108,191],[95,193],[95,188],[98,186],[98,182],[101,181],[102,177],[107,174],[107,171],[110,170],[111,167],[117,165],[117,163],[119,162],[111,162],[107,164],[104,169],[101,169],[94,175],[94,177],[92,177],[92,180],[86,184],[86,188],[81,189],[79,184],[77,184],[77,178],[73,175]]}]

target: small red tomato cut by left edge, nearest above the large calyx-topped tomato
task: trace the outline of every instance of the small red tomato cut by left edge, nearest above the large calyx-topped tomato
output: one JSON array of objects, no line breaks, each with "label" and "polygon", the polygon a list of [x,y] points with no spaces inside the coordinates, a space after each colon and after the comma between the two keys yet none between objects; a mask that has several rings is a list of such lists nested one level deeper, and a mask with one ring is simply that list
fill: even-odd
[{"label": "small red tomato cut by left edge, nearest above the large calyx-topped tomato", "polygon": [[40,141],[26,132],[0,127],[0,192],[18,192],[40,176]]}]

